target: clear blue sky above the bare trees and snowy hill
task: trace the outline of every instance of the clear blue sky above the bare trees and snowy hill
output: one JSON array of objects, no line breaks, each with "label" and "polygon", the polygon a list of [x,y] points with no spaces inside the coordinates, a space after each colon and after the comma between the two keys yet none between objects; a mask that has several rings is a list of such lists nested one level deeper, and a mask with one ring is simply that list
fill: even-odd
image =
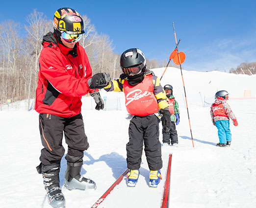
[{"label": "clear blue sky above the bare trees and snowy hill", "polygon": [[226,70],[256,61],[255,0],[13,0],[1,2],[0,22],[26,23],[33,9],[52,19],[59,7],[87,15],[114,52],[140,48],[149,59],[168,61],[175,48],[186,54],[186,70]]}]

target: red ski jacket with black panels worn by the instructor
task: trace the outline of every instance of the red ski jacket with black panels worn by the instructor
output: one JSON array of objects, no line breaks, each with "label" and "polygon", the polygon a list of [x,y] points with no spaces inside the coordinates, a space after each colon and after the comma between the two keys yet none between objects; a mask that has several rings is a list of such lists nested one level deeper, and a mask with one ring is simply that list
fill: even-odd
[{"label": "red ski jacket with black panels worn by the instructor", "polygon": [[42,114],[72,117],[81,113],[81,96],[89,89],[92,69],[82,46],[68,48],[52,32],[43,38],[39,58],[35,110]]}]

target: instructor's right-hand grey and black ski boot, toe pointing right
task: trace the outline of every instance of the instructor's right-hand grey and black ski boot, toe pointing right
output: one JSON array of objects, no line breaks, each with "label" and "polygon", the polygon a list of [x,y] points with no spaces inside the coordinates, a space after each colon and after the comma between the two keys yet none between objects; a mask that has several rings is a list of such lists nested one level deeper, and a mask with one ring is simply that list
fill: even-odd
[{"label": "instructor's right-hand grey and black ski boot, toe pointing right", "polygon": [[[69,157],[67,156],[66,159]],[[64,179],[64,186],[67,189],[96,189],[96,183],[94,181],[84,178],[80,175],[82,164],[82,159],[77,162],[67,162],[67,169]]]}]

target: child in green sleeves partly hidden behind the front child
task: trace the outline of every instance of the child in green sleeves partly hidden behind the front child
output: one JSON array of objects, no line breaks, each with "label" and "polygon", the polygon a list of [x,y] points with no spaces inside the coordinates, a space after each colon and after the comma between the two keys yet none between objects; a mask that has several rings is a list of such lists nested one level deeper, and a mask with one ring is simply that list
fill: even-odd
[{"label": "child in green sleeves partly hidden behind the front child", "polygon": [[170,105],[169,111],[171,114],[171,125],[169,128],[170,130],[166,131],[166,129],[164,128],[164,123],[162,123],[162,125],[163,125],[163,129],[162,129],[163,146],[170,145],[170,139],[171,139],[171,144],[173,146],[178,146],[178,135],[177,135],[176,125],[179,124],[179,104],[173,96],[173,86],[165,85],[164,91],[168,98],[167,102]]}]

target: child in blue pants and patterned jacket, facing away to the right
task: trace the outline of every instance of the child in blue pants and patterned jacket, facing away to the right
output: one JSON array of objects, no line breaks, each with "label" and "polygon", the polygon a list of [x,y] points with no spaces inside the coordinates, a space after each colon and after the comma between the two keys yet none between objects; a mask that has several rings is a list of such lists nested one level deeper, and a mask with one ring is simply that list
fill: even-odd
[{"label": "child in blue pants and patterned jacket, facing away to the right", "polygon": [[230,120],[233,121],[234,126],[237,126],[237,120],[234,113],[226,100],[229,99],[229,92],[222,90],[216,92],[215,102],[211,105],[211,120],[214,126],[218,129],[218,136],[220,142],[216,144],[219,147],[230,146],[231,144],[231,132],[230,132]]}]

